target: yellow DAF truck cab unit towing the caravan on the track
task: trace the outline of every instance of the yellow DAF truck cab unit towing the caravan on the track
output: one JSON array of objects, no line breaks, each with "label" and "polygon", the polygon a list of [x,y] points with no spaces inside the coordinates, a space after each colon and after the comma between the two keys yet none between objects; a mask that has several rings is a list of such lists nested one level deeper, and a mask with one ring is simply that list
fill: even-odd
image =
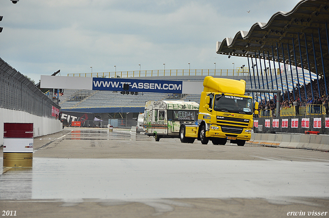
[{"label": "yellow DAF truck cab unit towing the caravan on the track", "polygon": [[206,76],[201,93],[198,120],[195,124],[182,123],[179,139],[182,143],[194,139],[214,145],[230,143],[244,146],[250,140],[253,113],[258,114],[258,102],[245,95],[246,82]]}]

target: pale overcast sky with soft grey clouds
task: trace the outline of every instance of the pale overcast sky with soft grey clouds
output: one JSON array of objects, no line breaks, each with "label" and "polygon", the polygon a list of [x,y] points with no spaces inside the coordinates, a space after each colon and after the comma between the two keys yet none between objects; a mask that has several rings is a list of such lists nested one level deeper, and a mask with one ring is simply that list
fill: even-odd
[{"label": "pale overcast sky with soft grey clouds", "polygon": [[[298,0],[0,0],[0,57],[40,75],[167,69],[233,69],[247,59],[216,42],[267,23]],[[250,11],[248,13],[248,11]]]}]

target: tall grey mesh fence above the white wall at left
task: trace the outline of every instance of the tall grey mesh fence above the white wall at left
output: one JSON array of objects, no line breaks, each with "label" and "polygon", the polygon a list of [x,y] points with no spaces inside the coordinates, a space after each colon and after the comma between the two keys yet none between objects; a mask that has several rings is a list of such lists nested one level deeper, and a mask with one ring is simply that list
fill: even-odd
[{"label": "tall grey mesh fence above the white wall at left", "polygon": [[60,109],[60,106],[0,58],[0,108],[56,118],[53,116],[53,108]]}]

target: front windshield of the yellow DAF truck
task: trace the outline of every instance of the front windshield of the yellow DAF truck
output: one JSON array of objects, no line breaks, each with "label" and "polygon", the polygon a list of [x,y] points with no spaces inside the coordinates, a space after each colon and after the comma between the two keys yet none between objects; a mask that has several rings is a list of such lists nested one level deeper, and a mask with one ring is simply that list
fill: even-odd
[{"label": "front windshield of the yellow DAF truck", "polygon": [[252,114],[252,99],[246,97],[232,95],[215,95],[214,110],[229,112]]}]

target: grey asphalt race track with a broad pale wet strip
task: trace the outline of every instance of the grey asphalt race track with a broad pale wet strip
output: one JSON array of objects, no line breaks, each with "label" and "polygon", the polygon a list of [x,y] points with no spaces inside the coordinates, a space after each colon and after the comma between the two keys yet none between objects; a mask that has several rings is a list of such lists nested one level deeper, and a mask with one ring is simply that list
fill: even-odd
[{"label": "grey asphalt race track with a broad pale wet strip", "polygon": [[0,209],[16,201],[58,202],[72,210],[86,202],[115,207],[134,202],[154,209],[144,212],[148,217],[177,212],[176,207],[198,208],[209,199],[218,203],[214,207],[241,199],[244,205],[265,201],[265,210],[272,210],[271,204],[298,204],[291,209],[308,205],[327,211],[328,181],[327,152],[181,144],[177,138],[155,142],[130,130],[65,128],[34,139],[32,168],[3,169]]}]

